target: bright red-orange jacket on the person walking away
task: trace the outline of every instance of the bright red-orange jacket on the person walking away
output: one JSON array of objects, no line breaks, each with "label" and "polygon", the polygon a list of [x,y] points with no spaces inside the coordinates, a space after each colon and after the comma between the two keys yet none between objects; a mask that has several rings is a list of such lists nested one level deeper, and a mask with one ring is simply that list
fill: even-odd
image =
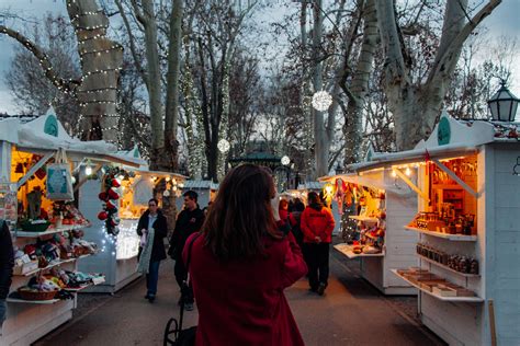
[{"label": "bright red-orange jacket on the person walking away", "polygon": [[305,208],[299,227],[304,233],[304,243],[316,243],[316,237],[321,239],[321,243],[332,241],[335,221],[328,208],[323,207],[319,211],[313,207]]}]

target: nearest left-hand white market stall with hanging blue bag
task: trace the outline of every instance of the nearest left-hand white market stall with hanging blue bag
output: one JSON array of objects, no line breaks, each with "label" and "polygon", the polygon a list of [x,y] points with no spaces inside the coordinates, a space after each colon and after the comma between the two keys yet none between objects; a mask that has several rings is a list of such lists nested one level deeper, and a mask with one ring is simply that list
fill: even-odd
[{"label": "nearest left-hand white market stall with hanging blue bag", "polygon": [[86,158],[129,163],[115,146],[69,137],[53,109],[26,124],[0,122],[0,218],[15,247],[0,344],[29,345],[72,318],[77,291],[103,281],[77,272],[99,247],[84,239],[91,222],[72,203],[74,176]]}]

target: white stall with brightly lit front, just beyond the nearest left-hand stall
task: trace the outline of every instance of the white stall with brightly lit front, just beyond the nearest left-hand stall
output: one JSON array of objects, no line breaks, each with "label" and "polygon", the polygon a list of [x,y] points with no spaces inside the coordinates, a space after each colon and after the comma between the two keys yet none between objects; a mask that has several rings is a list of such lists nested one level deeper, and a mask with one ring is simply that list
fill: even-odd
[{"label": "white stall with brightly lit front, just beyond the nearest left-hand stall", "polygon": [[[89,288],[89,292],[113,293],[133,280],[140,274],[137,273],[137,254],[139,250],[139,237],[137,234],[137,223],[143,212],[148,208],[148,200],[156,197],[159,206],[163,207],[162,196],[154,194],[157,185],[163,184],[166,187],[163,196],[179,196],[185,177],[180,174],[169,172],[148,171],[146,162],[140,155],[126,153],[124,158],[134,158],[140,162],[140,166],[112,168],[105,165],[100,168],[102,178],[99,181],[88,181],[79,191],[80,210],[92,221],[92,232],[86,237],[90,241],[101,244],[102,252],[95,258],[87,258],[81,262],[79,268],[84,272],[100,272],[105,274],[105,281],[101,285]],[[104,172],[104,173],[103,173]],[[100,220],[103,214],[103,200],[100,194],[103,193],[103,184],[114,181],[117,187],[118,198],[110,200],[114,205],[114,219],[117,226],[114,231],[109,230],[111,219]],[[108,204],[108,203],[106,203]],[[173,220],[169,220],[173,223]],[[171,226],[172,227],[172,226]]]}]

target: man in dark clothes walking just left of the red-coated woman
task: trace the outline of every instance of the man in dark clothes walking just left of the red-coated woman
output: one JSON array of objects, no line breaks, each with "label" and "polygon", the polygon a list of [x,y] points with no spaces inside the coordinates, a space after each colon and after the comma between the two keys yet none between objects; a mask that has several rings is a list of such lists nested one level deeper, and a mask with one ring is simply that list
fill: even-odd
[{"label": "man in dark clothes walking just left of the red-coated woman", "polygon": [[[201,230],[204,222],[204,211],[201,210],[197,204],[199,195],[194,191],[188,191],[183,194],[184,209],[179,214],[176,222],[176,229],[170,239],[170,250],[168,254],[176,261],[173,268],[177,284],[182,290],[182,282],[188,276],[184,262],[182,261],[182,250],[188,238]],[[181,291],[181,299],[184,299],[184,309],[193,310],[193,291],[191,287],[185,292]],[[180,302],[180,301],[179,301]]]}]

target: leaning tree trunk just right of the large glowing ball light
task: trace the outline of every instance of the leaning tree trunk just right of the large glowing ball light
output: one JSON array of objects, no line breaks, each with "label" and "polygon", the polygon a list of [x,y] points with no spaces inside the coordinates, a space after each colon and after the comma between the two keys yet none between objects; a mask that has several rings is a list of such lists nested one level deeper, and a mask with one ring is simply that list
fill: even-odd
[{"label": "leaning tree trunk just right of the large glowing ball light", "polygon": [[363,111],[369,93],[369,78],[373,70],[374,54],[377,48],[377,15],[374,0],[368,0],[363,9],[363,44],[358,58],[349,93],[349,104],[344,118],[344,165],[360,161],[363,140]]}]

